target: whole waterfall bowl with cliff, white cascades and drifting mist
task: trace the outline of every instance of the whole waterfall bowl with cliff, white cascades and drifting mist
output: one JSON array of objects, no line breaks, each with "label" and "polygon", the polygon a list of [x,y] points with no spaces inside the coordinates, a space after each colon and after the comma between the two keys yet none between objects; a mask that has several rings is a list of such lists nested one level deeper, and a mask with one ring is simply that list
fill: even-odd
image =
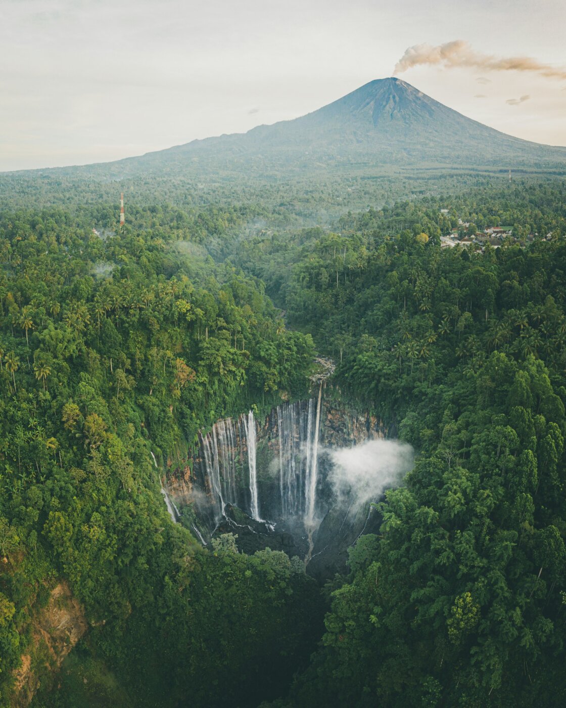
[{"label": "whole waterfall bowl with cliff, white cascades and drifting mist", "polygon": [[309,572],[318,566],[328,576],[361,532],[377,530],[370,503],[412,467],[410,445],[387,433],[366,413],[325,404],[320,387],[317,399],[281,404],[262,425],[251,411],[217,421],[200,435],[190,479],[173,476],[166,486],[207,541],[233,532],[243,552],[308,554]]}]

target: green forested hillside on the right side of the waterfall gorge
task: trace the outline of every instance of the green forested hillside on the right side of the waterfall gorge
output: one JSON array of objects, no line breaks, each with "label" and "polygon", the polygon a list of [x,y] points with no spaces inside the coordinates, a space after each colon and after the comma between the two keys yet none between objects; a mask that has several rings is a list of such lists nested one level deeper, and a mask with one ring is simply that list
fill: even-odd
[{"label": "green forested hillside on the right side of the waterfall gorge", "polygon": [[[563,205],[560,187],[424,200],[242,256],[340,358],[337,384],[420,450],[277,705],[563,704]],[[439,206],[553,235],[441,250]],[[270,258],[295,262],[288,278]]]}]

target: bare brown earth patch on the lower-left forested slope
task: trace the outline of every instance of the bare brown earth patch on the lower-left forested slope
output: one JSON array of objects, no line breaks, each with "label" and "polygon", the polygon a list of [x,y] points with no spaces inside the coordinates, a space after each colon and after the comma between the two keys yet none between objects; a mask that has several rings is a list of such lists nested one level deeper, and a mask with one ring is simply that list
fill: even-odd
[{"label": "bare brown earth patch on the lower-left forested slope", "polygon": [[46,672],[59,670],[64,658],[88,629],[84,610],[66,582],[51,591],[47,605],[32,622],[32,639],[21,657],[12,705],[24,708],[31,702]]}]

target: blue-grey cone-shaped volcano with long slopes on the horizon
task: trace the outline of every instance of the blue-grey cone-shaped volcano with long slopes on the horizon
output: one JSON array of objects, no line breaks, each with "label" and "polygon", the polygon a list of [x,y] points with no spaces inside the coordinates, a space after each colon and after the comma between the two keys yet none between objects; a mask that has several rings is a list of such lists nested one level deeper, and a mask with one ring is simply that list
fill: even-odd
[{"label": "blue-grey cone-shaped volcano with long slopes on the horizon", "polygon": [[370,81],[295,120],[55,172],[109,178],[144,173],[266,177],[436,166],[562,170],[566,148],[505,135],[391,78]]}]

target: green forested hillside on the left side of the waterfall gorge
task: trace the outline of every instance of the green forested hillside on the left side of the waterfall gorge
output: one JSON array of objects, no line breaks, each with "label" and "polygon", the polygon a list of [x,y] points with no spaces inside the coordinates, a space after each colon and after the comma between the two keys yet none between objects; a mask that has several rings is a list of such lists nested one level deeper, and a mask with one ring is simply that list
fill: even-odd
[{"label": "green forested hillside on the left side of the waterfall gorge", "polygon": [[128,704],[273,694],[308,651],[313,582],[229,537],[202,549],[158,474],[221,413],[302,394],[310,337],[241,272],[158,231],[101,239],[62,211],[5,212],[0,244],[0,703],[21,655],[45,674],[35,618],[59,577]]}]

